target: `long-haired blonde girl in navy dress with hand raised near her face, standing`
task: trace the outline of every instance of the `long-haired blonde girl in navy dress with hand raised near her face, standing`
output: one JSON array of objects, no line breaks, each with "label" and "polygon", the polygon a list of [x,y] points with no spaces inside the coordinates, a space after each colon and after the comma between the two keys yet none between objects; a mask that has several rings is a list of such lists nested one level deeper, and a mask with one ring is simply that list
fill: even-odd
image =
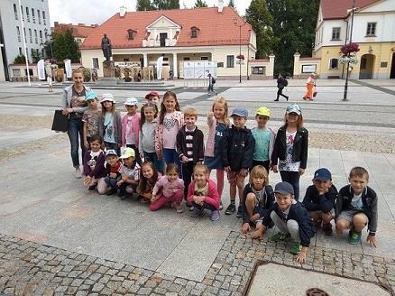
[{"label": "long-haired blonde girl in navy dress with hand raised near her face, standing", "polygon": [[[224,190],[224,166],[221,161],[221,139],[225,130],[229,127],[227,117],[228,106],[225,97],[217,97],[211,107],[211,112],[207,116],[208,136],[205,151],[205,164],[208,168],[208,176],[211,170],[216,170],[216,190],[221,200],[222,191]],[[222,209],[222,201],[220,201]]]}]

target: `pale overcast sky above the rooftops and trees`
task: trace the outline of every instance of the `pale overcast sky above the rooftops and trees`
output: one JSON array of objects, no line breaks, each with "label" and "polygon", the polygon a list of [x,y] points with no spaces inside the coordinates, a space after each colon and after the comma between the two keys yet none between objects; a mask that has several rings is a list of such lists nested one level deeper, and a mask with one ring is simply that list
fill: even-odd
[{"label": "pale overcast sky above the rooftops and trees", "polygon": [[[49,0],[51,25],[59,23],[103,23],[110,16],[119,12],[119,7],[124,5],[128,11],[136,9],[136,0]],[[180,7],[188,8],[195,5],[195,0],[179,0]],[[224,4],[228,4],[224,0]],[[208,6],[218,5],[217,0],[206,0]],[[245,9],[251,0],[234,0],[239,14],[244,15]]]}]

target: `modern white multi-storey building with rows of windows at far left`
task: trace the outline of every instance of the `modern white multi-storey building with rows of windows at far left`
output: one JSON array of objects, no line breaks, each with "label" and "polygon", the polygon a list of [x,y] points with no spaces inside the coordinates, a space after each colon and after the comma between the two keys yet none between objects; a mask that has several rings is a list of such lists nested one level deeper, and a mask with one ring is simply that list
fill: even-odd
[{"label": "modern white multi-storey building with rows of windows at far left", "polygon": [[5,79],[9,78],[8,65],[14,63],[16,56],[24,55],[23,32],[29,61],[32,62],[32,51],[38,51],[42,57],[43,43],[51,34],[48,0],[21,0],[21,6],[18,0],[0,1],[0,42],[4,43]]}]

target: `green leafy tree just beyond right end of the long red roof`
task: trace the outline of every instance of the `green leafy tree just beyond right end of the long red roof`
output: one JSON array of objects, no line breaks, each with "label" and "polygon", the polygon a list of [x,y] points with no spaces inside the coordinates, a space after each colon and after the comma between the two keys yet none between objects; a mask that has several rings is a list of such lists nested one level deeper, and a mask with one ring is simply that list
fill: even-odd
[{"label": "green leafy tree just beyond right end of the long red roof", "polygon": [[256,34],[256,59],[269,56],[273,49],[275,37],[273,35],[273,17],[265,0],[253,0],[245,11],[245,19],[253,26]]}]

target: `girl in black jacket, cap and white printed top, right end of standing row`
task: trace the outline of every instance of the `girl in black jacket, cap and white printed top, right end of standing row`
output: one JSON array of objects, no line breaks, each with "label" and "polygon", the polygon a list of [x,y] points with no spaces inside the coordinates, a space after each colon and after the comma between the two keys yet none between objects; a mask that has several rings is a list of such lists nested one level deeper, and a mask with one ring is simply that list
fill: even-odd
[{"label": "girl in black jacket, cap and white printed top, right end of standing row", "polygon": [[273,172],[280,170],[281,180],[292,184],[294,199],[299,200],[299,178],[308,163],[308,130],[303,127],[303,116],[298,104],[287,107],[284,122],[285,125],[277,132],[271,163]]}]

